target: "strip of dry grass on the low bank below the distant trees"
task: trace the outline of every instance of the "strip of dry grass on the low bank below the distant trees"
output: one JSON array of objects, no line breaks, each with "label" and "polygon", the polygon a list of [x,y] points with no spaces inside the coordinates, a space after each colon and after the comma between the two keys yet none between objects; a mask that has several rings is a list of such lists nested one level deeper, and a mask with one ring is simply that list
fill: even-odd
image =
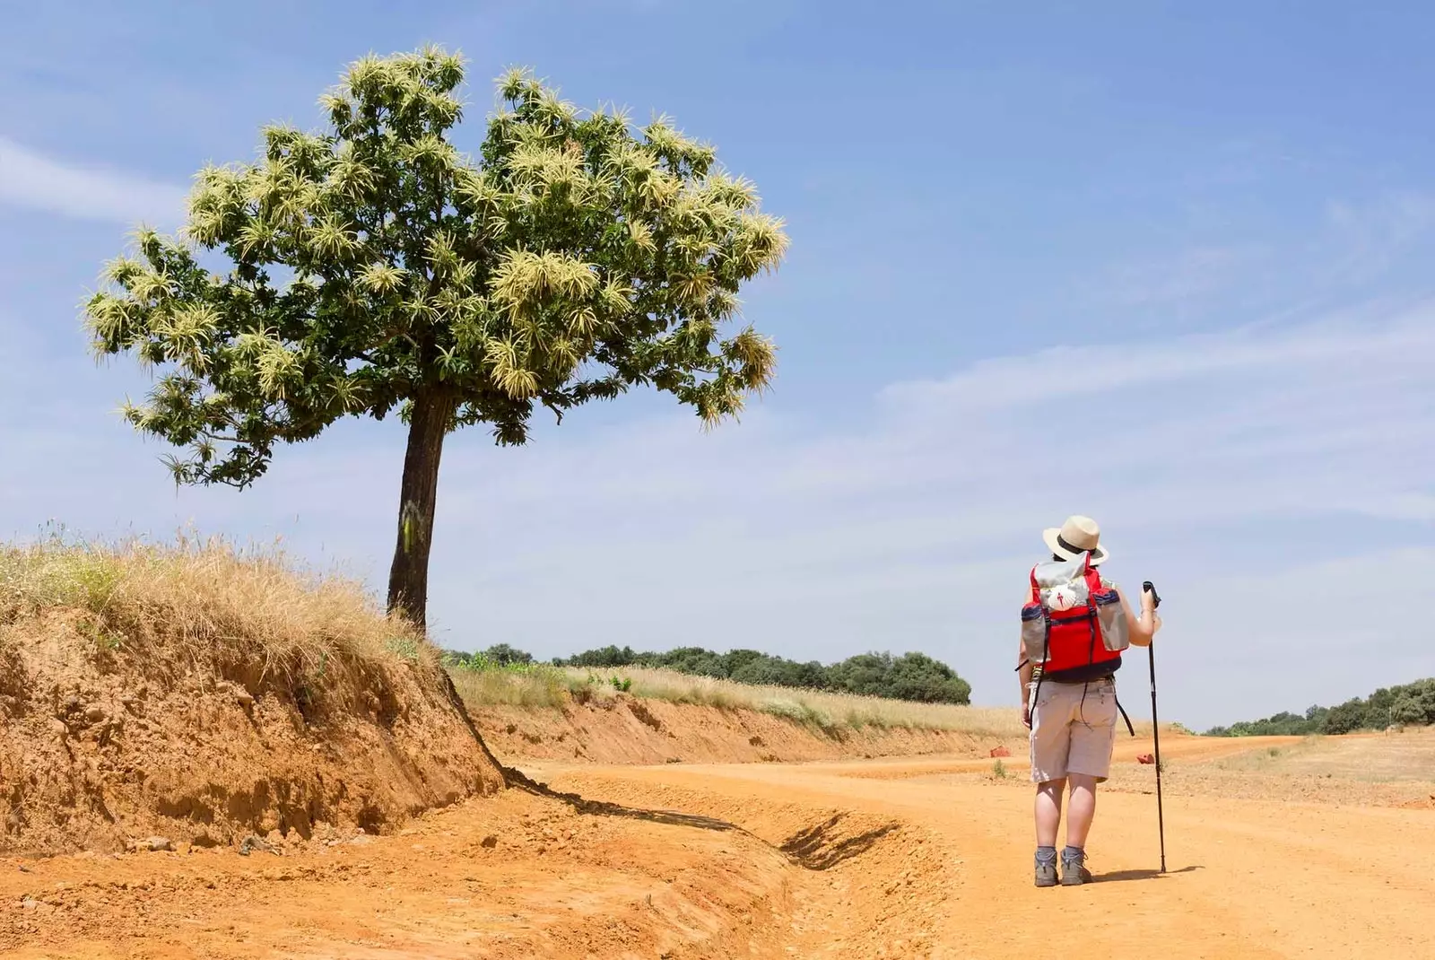
[{"label": "strip of dry grass on the low bank below the distant trees", "polygon": [[[987,738],[1022,738],[1026,729],[1012,707],[910,703],[847,693],[821,693],[643,667],[584,669],[451,669],[453,684],[469,706],[563,707],[570,702],[613,697],[627,682],[637,697],[695,703],[720,710],[758,710],[819,729],[907,728],[954,730]],[[617,679],[617,684],[613,680]]]}]

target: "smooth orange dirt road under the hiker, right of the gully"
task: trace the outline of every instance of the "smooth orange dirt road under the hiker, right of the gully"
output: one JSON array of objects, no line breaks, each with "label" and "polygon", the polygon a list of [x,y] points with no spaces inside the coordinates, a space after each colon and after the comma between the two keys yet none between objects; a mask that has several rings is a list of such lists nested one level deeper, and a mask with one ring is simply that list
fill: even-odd
[{"label": "smooth orange dirt road under the hiker, right of the gully", "polygon": [[[1158,875],[1155,798],[1109,792],[1088,842],[1101,883],[1036,890],[1030,789],[943,772],[971,766],[627,768],[565,772],[555,782],[730,817],[773,842],[784,829],[768,827],[773,809],[861,812],[921,831],[954,867],[905,881],[917,900],[941,904],[928,928],[894,910],[888,865],[871,860],[875,851],[854,858],[841,883],[809,878],[798,894],[805,930],[795,931],[789,956],[1030,957],[1050,951],[1055,937],[1101,943],[1111,957],[1435,957],[1435,880],[1418,852],[1435,839],[1429,811],[1168,798],[1170,872]],[[851,937],[852,917],[881,934],[855,943],[828,936]]]}]

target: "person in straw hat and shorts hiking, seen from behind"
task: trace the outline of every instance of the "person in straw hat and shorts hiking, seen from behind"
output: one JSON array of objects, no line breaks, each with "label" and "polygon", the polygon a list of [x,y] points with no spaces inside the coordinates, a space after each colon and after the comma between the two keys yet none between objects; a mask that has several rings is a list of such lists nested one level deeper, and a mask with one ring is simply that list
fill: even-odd
[{"label": "person in straw hat and shorts hiking, seen from behind", "polygon": [[1121,651],[1128,644],[1149,646],[1161,620],[1151,593],[1142,591],[1138,617],[1125,593],[1096,573],[1108,557],[1096,521],[1071,517],[1042,537],[1052,560],[1038,564],[1029,578],[1017,664],[1036,783],[1036,885],[1058,883],[1056,831],[1071,783],[1060,883],[1073,887],[1091,880],[1086,834],[1096,814],[1096,783],[1111,773]]}]

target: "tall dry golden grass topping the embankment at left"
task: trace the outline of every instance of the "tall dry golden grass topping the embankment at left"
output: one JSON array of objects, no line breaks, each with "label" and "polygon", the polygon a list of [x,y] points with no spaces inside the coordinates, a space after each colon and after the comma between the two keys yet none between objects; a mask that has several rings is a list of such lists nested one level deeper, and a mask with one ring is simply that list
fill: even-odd
[{"label": "tall dry golden grass topping the embankment at left", "polygon": [[[224,666],[255,684],[359,674],[436,654],[349,578],[304,571],[277,550],[218,540],[0,547],[0,624],[63,617],[99,653]],[[13,630],[11,630],[13,631]]]}]

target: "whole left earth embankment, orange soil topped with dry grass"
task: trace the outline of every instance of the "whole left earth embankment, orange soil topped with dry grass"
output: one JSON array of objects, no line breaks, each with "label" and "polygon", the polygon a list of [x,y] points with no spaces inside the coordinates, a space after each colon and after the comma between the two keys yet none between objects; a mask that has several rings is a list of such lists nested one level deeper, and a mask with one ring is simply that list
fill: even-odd
[{"label": "whole left earth embankment, orange soil topped with dry grass", "polygon": [[263,558],[0,555],[0,851],[386,832],[502,773],[435,651]]}]

